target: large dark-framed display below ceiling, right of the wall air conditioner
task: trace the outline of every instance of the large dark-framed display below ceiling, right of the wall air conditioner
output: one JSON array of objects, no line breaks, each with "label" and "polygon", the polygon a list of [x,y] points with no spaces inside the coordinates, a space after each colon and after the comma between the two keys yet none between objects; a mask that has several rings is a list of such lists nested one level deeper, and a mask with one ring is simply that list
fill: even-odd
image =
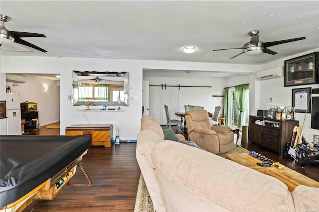
[{"label": "large dark-framed display below ceiling, right of the wall air conditioner", "polygon": [[319,83],[319,52],[285,61],[285,87]]}]

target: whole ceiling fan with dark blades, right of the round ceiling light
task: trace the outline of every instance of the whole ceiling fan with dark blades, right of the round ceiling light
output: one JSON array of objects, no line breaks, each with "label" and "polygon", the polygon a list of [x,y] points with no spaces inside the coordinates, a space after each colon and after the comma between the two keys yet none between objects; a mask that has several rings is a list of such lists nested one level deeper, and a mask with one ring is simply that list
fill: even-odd
[{"label": "whole ceiling fan with dark blades, right of the round ceiling light", "polygon": [[[258,33],[259,33],[258,30],[253,30],[253,31],[248,32],[248,34],[251,36],[251,39],[250,39],[250,42],[247,42],[244,44],[244,47],[230,48],[230,49],[243,49],[243,52],[241,52],[241,53],[239,53],[239,54],[237,54],[229,59],[233,59],[241,54],[256,55],[256,54],[260,54],[262,52],[274,55],[274,54],[277,54],[277,52],[274,52],[270,49],[267,49],[267,47],[306,39],[306,37],[299,37],[299,38],[293,38],[293,39],[288,39],[288,40],[263,42],[263,41],[259,40]],[[228,49],[215,49],[213,51],[221,51],[221,50],[228,50]]]}]

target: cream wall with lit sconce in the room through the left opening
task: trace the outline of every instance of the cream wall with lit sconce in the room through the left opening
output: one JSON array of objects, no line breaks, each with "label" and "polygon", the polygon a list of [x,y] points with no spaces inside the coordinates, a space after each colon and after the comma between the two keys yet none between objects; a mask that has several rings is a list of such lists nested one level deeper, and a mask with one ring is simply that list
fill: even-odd
[{"label": "cream wall with lit sconce in the room through the left opening", "polygon": [[[11,93],[20,96],[20,103],[28,101],[38,104],[40,126],[58,122],[60,120],[60,88],[57,84],[58,81],[28,74],[25,76],[25,83],[13,86],[12,82],[6,82],[6,86],[10,86]],[[44,87],[48,89],[44,90]]]}]

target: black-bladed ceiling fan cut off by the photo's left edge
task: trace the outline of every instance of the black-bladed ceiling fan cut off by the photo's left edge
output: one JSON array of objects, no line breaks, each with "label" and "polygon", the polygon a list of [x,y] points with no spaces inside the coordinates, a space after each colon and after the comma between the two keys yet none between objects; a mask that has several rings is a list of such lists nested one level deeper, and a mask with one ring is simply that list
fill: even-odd
[{"label": "black-bladed ceiling fan cut off by the photo's left edge", "polygon": [[41,49],[40,47],[29,43],[25,40],[22,40],[21,37],[46,37],[44,34],[37,34],[31,32],[16,32],[16,31],[9,31],[4,27],[4,22],[9,21],[11,18],[6,15],[0,14],[0,46],[2,44],[11,44],[11,43],[19,43],[33,49],[39,50],[41,52],[46,52],[46,50]]}]

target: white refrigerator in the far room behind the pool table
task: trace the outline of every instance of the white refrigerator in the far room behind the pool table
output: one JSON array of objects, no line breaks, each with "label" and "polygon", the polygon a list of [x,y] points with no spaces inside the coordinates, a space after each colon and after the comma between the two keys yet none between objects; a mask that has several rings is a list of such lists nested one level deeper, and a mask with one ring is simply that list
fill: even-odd
[{"label": "white refrigerator in the far room behind the pool table", "polygon": [[22,135],[20,97],[18,94],[6,93],[6,134]]}]

